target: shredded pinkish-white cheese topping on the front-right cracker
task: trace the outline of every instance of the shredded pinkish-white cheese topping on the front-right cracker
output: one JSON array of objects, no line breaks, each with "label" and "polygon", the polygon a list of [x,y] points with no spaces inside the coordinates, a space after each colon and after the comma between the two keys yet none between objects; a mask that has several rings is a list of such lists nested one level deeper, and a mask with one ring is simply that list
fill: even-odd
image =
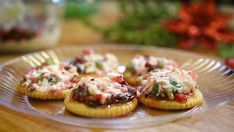
[{"label": "shredded pinkish-white cheese topping on the front-right cracker", "polygon": [[197,86],[195,79],[196,74],[192,71],[185,71],[180,68],[157,69],[150,72],[141,85],[144,89],[147,89],[145,93],[150,93],[155,83],[159,84],[160,93],[166,92],[170,88],[178,93],[190,93]]}]

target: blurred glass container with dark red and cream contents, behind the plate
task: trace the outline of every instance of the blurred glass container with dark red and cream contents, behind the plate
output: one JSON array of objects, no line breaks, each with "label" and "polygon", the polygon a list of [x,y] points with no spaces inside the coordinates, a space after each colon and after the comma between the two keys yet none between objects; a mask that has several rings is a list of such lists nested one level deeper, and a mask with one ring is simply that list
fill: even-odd
[{"label": "blurred glass container with dark red and cream contents, behind the plate", "polygon": [[1,0],[0,52],[45,49],[57,44],[63,0]]}]

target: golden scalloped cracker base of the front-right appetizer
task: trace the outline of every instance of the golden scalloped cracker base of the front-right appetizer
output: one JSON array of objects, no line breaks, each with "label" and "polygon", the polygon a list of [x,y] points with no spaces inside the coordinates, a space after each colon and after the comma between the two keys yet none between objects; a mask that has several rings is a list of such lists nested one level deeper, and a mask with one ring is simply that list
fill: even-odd
[{"label": "golden scalloped cracker base of the front-right appetizer", "polygon": [[189,97],[186,103],[171,100],[159,100],[150,97],[140,97],[139,100],[150,107],[162,110],[188,109],[203,103],[203,96],[200,90],[195,90],[194,95]]}]

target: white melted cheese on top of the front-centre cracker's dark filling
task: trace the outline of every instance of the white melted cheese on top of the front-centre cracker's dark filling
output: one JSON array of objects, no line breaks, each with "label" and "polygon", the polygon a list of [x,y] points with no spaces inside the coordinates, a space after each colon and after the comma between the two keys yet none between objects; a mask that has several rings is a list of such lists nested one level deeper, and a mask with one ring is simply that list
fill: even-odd
[{"label": "white melted cheese on top of the front-centre cracker's dark filling", "polygon": [[127,85],[121,85],[118,82],[112,80],[114,77],[122,77],[121,74],[108,73],[104,77],[85,77],[81,78],[78,85],[85,84],[88,87],[88,91],[91,95],[102,95],[101,103],[105,104],[107,98],[111,98],[112,95],[118,95],[128,92]]}]

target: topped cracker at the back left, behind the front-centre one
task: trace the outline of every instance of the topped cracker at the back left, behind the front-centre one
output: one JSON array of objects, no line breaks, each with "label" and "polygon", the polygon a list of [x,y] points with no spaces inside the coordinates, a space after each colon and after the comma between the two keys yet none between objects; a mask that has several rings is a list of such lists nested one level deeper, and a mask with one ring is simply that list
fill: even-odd
[{"label": "topped cracker at the back left, behind the front-centre one", "polygon": [[84,49],[81,55],[77,55],[71,64],[77,67],[79,74],[101,75],[111,71],[117,71],[118,59],[115,55],[106,53],[96,54],[92,49]]}]

